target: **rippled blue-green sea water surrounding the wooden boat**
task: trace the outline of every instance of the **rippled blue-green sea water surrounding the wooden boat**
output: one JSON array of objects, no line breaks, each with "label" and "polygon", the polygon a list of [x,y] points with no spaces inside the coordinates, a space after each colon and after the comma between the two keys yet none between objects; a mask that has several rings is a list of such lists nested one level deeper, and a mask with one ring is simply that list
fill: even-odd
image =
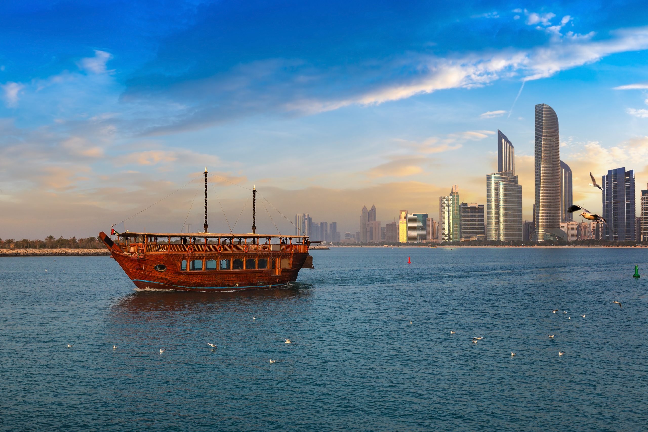
[{"label": "rippled blue-green sea water surrounding the wooden boat", "polygon": [[644,249],[312,255],[290,288],[230,293],[0,258],[0,429],[648,428]]}]

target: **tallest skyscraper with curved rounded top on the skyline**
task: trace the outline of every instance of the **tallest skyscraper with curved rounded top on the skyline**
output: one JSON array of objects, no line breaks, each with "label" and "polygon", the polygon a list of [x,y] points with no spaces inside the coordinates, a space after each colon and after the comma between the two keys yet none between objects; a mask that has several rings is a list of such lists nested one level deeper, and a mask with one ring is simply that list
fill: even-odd
[{"label": "tallest skyscraper with curved rounded top on the skyline", "polygon": [[561,142],[558,117],[547,104],[535,106],[535,235],[544,242],[561,223]]}]

